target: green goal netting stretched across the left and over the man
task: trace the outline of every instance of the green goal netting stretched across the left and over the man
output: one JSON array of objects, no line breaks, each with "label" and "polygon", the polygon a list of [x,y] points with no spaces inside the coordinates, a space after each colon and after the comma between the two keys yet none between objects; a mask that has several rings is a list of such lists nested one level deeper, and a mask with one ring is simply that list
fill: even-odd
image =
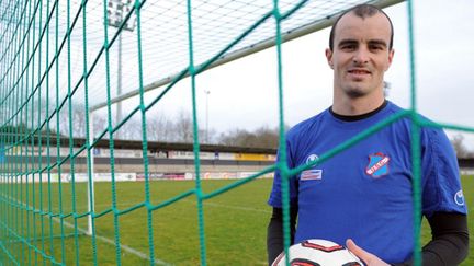
[{"label": "green goal netting stretched across the left and over the man", "polygon": [[[190,197],[195,197],[198,210],[199,255],[202,265],[207,264],[207,240],[203,208],[204,203],[218,195],[228,193],[276,169],[283,175],[284,243],[289,238],[289,176],[300,173],[311,166],[330,160],[338,152],[358,143],[368,136],[403,117],[413,119],[413,163],[414,163],[414,198],[415,218],[420,218],[420,169],[419,169],[419,128],[444,127],[458,130],[473,131],[470,128],[427,124],[419,120],[416,113],[415,81],[415,47],[413,35],[411,1],[408,1],[410,71],[411,71],[411,108],[397,114],[387,120],[361,132],[353,139],[336,147],[331,151],[308,165],[290,170],[285,164],[286,148],[280,150],[280,161],[247,178],[229,185],[204,192],[201,182],[200,136],[196,116],[196,77],[213,66],[226,55],[251,47],[274,36],[278,58],[280,141],[284,143],[283,112],[283,77],[281,45],[291,28],[307,25],[314,20],[327,18],[352,7],[351,3],[330,1],[174,1],[159,5],[153,1],[125,2],[127,11],[123,21],[109,20],[112,13],[108,5],[117,1],[1,1],[0,10],[0,262],[7,265],[66,265],[66,264],[101,264],[105,254],[99,252],[99,243],[108,242],[114,246],[114,258],[104,264],[121,265],[125,253],[142,256],[151,265],[168,264],[157,258],[155,238],[158,230],[155,213],[163,208],[177,206]],[[372,2],[372,1],[360,1]],[[394,1],[395,2],[395,1]],[[226,9],[226,4],[229,5]],[[234,5],[233,5],[234,4]],[[224,10],[224,11],[223,11]],[[229,23],[216,24],[216,20],[226,18],[229,12],[244,12]],[[331,11],[329,11],[331,10]],[[151,12],[153,11],[153,12]],[[168,12],[167,12],[168,11]],[[227,13],[226,13],[227,12]],[[329,13],[328,13],[329,12]],[[247,18],[247,16],[248,18]],[[179,20],[180,23],[156,25],[156,21],[168,22]],[[249,19],[250,18],[250,19]],[[115,27],[110,27],[110,24]],[[198,24],[198,26],[196,26]],[[98,26],[99,25],[99,26]],[[219,25],[223,26],[219,30]],[[174,39],[171,45],[161,49],[150,50],[147,43],[154,28],[161,26],[163,43]],[[133,28],[133,34],[126,31]],[[214,38],[204,35],[210,28]],[[122,36],[123,35],[123,36]],[[155,35],[158,35],[155,33]],[[99,36],[99,37],[98,37]],[[128,37],[126,37],[128,36]],[[129,59],[136,68],[133,73],[124,73],[127,80],[124,92],[137,89],[139,104],[121,120],[112,117],[113,103],[116,101],[116,76],[111,66],[116,63],[115,48],[122,37],[126,37]],[[178,38],[178,41],[176,39]],[[207,39],[208,42],[204,42]],[[79,41],[79,46],[78,46]],[[179,41],[184,41],[179,43]],[[176,45],[179,44],[179,45]],[[159,46],[159,44],[157,44]],[[185,49],[179,49],[181,46]],[[176,50],[173,50],[173,47]],[[149,66],[147,60],[160,61],[157,68],[144,69]],[[151,70],[150,70],[151,69]],[[128,74],[128,76],[127,76]],[[145,91],[153,86],[153,81],[172,77],[167,88],[149,103],[144,99]],[[148,111],[156,105],[184,77],[191,77],[192,118],[193,118],[193,151],[195,183],[191,188],[178,195],[165,197],[161,200],[151,199],[147,120]],[[127,83],[128,82],[128,83]],[[105,129],[93,135],[91,128],[92,105],[103,105],[106,108]],[[81,102],[82,109],[77,109],[75,103]],[[75,114],[82,112],[84,118],[83,136],[75,136]],[[115,169],[114,140],[117,130],[131,117],[138,115],[142,122],[142,157],[144,172],[143,199],[132,206],[123,207],[119,198],[119,183]],[[66,117],[66,124],[64,123]],[[67,151],[63,150],[61,138],[68,138]],[[76,137],[83,137],[84,144],[77,148]],[[99,208],[94,203],[93,149],[101,139],[110,140],[110,203]],[[61,155],[65,154],[66,157]],[[79,182],[76,169],[77,161],[86,160],[87,186]],[[83,171],[83,170],[82,170]],[[64,182],[63,174],[69,175]],[[89,200],[88,200],[89,199]],[[84,208],[88,207],[88,208]],[[127,232],[123,227],[124,217],[136,216],[143,211],[146,240],[142,243],[146,253],[136,252],[122,243],[121,238]],[[95,223],[112,217],[110,221],[112,240],[103,238]],[[129,229],[131,227],[127,227]],[[415,263],[420,265],[419,220],[414,221],[416,239]],[[161,229],[163,230],[163,229]],[[159,232],[158,232],[159,233]],[[86,252],[83,252],[86,250]],[[87,254],[87,255],[84,255]],[[86,256],[86,257],[81,257]]]}]

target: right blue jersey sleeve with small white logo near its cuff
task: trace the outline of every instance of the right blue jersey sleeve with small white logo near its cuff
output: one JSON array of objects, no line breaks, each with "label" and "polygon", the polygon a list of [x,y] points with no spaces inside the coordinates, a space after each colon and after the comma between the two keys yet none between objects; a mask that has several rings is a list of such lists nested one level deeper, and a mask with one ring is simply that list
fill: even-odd
[{"label": "right blue jersey sleeve with small white logo near its cuff", "polygon": [[458,159],[451,142],[441,129],[428,129],[422,141],[422,211],[466,213]]}]

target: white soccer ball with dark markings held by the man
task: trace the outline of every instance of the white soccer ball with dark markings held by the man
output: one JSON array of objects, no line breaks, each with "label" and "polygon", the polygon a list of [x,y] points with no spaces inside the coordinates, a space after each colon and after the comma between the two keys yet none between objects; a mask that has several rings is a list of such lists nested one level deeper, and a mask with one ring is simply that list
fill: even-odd
[{"label": "white soccer ball with dark markings held by the man", "polygon": [[[346,247],[327,240],[306,240],[290,246],[291,266],[363,266],[364,264]],[[272,266],[285,266],[281,253]]]}]

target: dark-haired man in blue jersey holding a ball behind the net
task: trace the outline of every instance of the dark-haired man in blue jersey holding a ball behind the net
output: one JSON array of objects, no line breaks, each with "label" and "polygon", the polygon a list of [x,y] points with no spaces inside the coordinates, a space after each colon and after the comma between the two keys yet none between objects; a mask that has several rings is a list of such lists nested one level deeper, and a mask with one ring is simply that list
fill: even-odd
[{"label": "dark-haired man in blue jersey holding a ball behind the net", "polygon": [[[339,16],[326,50],[328,65],[334,69],[334,104],[289,131],[290,169],[316,160],[360,131],[402,112],[385,100],[383,91],[384,72],[394,56],[392,45],[393,25],[382,10],[362,4]],[[370,266],[410,265],[414,251],[410,126],[410,119],[399,119],[292,176],[293,243],[326,239],[346,243]],[[432,240],[422,248],[424,265],[458,265],[467,254],[469,233],[455,153],[440,129],[422,128],[420,141],[421,211],[432,232]],[[283,251],[278,171],[269,204],[273,207],[267,240],[271,263]]]}]

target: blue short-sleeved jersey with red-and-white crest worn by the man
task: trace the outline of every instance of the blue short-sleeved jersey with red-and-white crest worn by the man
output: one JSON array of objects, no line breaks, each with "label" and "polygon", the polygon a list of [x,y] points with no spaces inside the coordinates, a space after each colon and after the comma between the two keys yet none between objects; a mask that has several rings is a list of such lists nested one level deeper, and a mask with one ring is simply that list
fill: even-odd
[{"label": "blue short-sleeved jersey with red-and-white crest worn by the man", "polygon": [[[346,122],[329,109],[300,123],[286,136],[290,169],[316,160],[376,123],[400,112],[391,102],[363,119]],[[359,246],[385,262],[408,259],[414,250],[410,125],[402,118],[329,160],[290,180],[298,206],[295,243],[326,239]],[[441,129],[422,128],[422,215],[466,213],[454,150]],[[269,204],[281,208],[276,171]]]}]

